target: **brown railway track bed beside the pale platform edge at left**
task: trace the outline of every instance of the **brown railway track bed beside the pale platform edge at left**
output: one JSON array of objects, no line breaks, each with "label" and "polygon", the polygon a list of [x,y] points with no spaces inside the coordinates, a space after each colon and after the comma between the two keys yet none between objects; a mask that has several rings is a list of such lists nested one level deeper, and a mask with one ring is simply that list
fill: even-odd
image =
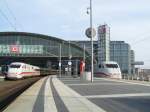
[{"label": "brown railway track bed beside the pale platform edge at left", "polygon": [[17,96],[38,81],[41,77],[24,80],[5,81],[0,83],[0,112],[2,112]]}]

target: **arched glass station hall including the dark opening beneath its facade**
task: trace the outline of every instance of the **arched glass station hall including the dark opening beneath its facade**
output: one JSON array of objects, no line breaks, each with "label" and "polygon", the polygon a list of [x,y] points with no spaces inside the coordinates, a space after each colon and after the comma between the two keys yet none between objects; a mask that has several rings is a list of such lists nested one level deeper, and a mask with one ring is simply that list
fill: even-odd
[{"label": "arched glass station hall including the dark opening beneath its facade", "polygon": [[56,37],[26,32],[0,32],[0,65],[21,61],[42,67],[56,67],[60,51],[64,63],[68,63],[68,60],[78,62],[83,58],[82,48]]}]

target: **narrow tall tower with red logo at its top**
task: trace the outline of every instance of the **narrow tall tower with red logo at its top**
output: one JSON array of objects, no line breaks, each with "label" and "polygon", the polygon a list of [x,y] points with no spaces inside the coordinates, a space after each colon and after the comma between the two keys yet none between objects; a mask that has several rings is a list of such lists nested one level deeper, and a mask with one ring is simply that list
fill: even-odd
[{"label": "narrow tall tower with red logo at its top", "polygon": [[110,60],[110,27],[105,24],[98,27],[98,63]]}]

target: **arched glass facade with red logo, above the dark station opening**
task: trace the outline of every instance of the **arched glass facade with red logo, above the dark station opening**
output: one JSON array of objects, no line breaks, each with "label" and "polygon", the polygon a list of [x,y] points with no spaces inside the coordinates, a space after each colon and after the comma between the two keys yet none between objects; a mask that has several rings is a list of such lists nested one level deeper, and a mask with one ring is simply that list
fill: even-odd
[{"label": "arched glass facade with red logo, above the dark station opening", "polygon": [[59,57],[60,45],[62,57],[68,57],[69,53],[73,57],[83,57],[82,48],[55,37],[24,32],[0,32],[0,56]]}]

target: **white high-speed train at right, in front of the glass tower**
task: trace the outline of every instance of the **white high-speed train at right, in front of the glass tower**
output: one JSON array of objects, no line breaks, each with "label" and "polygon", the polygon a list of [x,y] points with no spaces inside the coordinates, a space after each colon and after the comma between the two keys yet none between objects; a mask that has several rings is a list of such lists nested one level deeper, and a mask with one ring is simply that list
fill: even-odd
[{"label": "white high-speed train at right, in front of the glass tower", "polygon": [[121,70],[117,62],[114,61],[105,61],[95,66],[94,75],[96,77],[109,77],[115,79],[121,79]]}]

